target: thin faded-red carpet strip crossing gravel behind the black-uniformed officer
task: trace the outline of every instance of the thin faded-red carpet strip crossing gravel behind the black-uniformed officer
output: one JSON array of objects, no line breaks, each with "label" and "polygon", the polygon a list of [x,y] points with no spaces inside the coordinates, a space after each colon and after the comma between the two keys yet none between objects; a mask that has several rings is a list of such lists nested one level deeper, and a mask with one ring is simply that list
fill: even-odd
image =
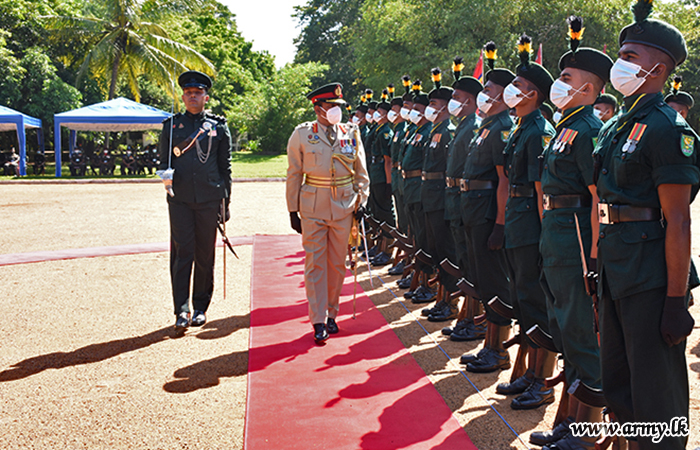
[{"label": "thin faded-red carpet strip crossing gravel behind the black-uniformed officer", "polygon": [[[250,236],[229,238],[231,245],[250,245],[253,239]],[[223,243],[217,238],[218,247]],[[112,245],[109,247],[70,248],[66,250],[39,251],[26,253],[7,253],[0,255],[0,266],[12,264],[27,264],[43,261],[59,261],[62,259],[96,258],[99,256],[133,255],[138,253],[157,253],[170,251],[170,242],[156,242],[150,244],[126,244]]]}]

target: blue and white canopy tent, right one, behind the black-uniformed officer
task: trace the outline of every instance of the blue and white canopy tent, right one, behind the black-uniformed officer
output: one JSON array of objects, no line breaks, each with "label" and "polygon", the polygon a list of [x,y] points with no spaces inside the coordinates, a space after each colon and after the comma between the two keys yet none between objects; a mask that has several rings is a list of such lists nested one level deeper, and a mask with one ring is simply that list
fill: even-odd
[{"label": "blue and white canopy tent, right one, behind the black-uniformed officer", "polygon": [[69,149],[73,152],[76,131],[157,130],[170,113],[119,97],[95,105],[54,114],[56,176],[61,176],[61,127],[70,130]]}]

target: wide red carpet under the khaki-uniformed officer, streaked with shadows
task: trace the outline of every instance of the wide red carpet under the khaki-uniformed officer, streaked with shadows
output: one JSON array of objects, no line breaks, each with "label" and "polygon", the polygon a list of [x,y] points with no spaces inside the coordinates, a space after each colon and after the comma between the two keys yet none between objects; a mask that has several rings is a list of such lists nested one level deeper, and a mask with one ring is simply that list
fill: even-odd
[{"label": "wide red carpet under the khaki-uniformed officer, streaked with shadows", "polygon": [[245,447],[476,450],[423,370],[353,279],[340,333],[316,346],[298,236],[255,236]]}]

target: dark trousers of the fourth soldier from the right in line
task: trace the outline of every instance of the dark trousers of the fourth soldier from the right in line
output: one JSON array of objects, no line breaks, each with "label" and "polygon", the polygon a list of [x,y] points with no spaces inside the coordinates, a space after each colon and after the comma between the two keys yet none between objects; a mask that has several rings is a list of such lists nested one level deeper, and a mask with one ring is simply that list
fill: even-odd
[{"label": "dark trousers of the fourth soldier from the right in line", "polygon": [[498,296],[504,303],[511,303],[510,280],[505,250],[489,250],[488,240],[493,231],[493,220],[473,227],[464,227],[473,280],[481,303],[486,310],[486,320],[496,325],[510,325],[510,319],[496,314],[488,302]]}]

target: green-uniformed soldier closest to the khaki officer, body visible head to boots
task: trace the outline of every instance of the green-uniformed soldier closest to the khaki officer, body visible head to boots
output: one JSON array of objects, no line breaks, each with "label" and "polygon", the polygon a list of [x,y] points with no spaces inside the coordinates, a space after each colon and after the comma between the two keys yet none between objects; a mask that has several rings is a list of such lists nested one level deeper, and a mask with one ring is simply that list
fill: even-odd
[{"label": "green-uniformed soldier closest to the khaki officer, body visible head to boots", "polygon": [[[394,205],[391,196],[391,141],[394,138],[394,130],[387,118],[391,110],[389,103],[389,90],[382,91],[382,101],[377,104],[373,114],[376,124],[374,139],[371,147],[367,149],[370,153],[370,165],[368,167],[370,179],[369,203],[372,215],[379,222],[386,222],[394,226]],[[378,253],[372,258],[373,266],[384,266],[389,263],[391,257],[386,253],[388,235],[382,235],[377,244]]]}]

